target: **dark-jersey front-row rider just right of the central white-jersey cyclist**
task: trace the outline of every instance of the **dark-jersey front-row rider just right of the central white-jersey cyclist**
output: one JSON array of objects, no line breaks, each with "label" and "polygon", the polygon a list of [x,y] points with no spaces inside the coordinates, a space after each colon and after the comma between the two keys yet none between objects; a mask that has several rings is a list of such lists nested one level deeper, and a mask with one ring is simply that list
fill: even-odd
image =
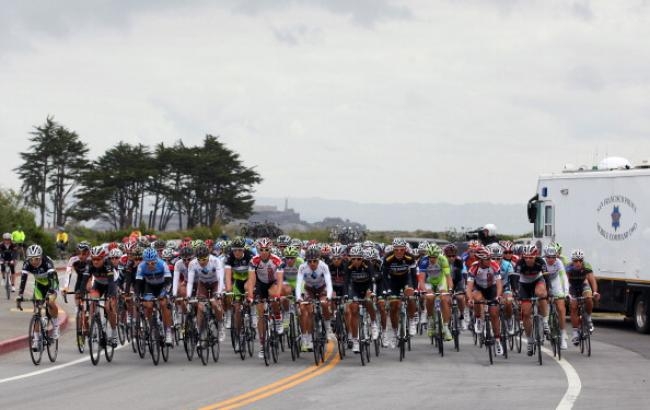
[{"label": "dark-jersey front-row rider just right of the central white-jersey cyclist", "polygon": [[[370,249],[370,248],[368,248]],[[346,288],[344,293],[352,300],[345,309],[345,322],[352,331],[352,351],[359,352],[359,301],[366,304],[366,309],[371,319],[371,338],[379,337],[377,318],[371,298],[375,296],[372,292],[372,283],[375,279],[375,271],[372,263],[363,260],[363,249],[355,246],[350,249],[350,260],[346,263]]]}]

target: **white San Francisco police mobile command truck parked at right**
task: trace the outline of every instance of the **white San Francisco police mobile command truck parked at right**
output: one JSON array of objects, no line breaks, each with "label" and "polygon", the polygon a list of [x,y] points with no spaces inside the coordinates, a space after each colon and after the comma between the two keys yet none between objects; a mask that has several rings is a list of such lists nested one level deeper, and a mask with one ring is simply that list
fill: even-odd
[{"label": "white San Francisco police mobile command truck parked at right", "polygon": [[598,280],[596,309],[623,313],[650,333],[650,164],[606,158],[593,169],[541,175],[528,202],[533,242],[585,252]]}]

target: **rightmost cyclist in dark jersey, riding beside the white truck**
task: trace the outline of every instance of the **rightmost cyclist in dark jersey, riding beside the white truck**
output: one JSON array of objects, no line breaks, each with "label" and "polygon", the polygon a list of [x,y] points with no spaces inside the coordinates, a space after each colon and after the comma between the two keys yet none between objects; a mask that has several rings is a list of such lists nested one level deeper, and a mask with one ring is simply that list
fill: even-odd
[{"label": "rightmost cyclist in dark jersey, riding beside the white truck", "polygon": [[589,324],[589,331],[593,332],[594,324],[591,321],[591,313],[594,309],[593,299],[598,301],[600,294],[598,293],[598,283],[594,277],[594,272],[589,264],[585,262],[585,253],[582,249],[571,251],[571,263],[566,268],[566,275],[569,279],[569,296],[571,298],[571,325],[573,326],[571,342],[577,346],[580,344],[578,335],[580,318],[578,317],[578,301],[575,298],[578,296],[586,298],[584,319]]}]

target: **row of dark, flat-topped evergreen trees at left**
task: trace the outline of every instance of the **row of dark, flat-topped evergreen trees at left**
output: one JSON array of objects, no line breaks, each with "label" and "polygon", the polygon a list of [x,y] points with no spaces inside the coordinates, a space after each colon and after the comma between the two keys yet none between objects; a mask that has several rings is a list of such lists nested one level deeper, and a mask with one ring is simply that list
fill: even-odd
[{"label": "row of dark, flat-topped evergreen trees at left", "polygon": [[253,187],[262,181],[254,168],[218,137],[200,146],[182,140],[149,148],[120,141],[97,159],[79,135],[47,117],[34,127],[31,146],[15,169],[28,206],[55,226],[70,219],[100,219],[115,230],[131,226],[165,230],[212,226],[252,212]]}]

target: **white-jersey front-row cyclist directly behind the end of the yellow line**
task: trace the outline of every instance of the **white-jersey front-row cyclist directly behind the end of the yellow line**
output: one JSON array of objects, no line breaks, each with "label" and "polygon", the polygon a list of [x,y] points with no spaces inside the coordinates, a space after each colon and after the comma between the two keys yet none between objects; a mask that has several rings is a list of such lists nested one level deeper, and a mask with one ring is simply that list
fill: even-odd
[{"label": "white-jersey front-row cyclist directly behind the end of the yellow line", "polygon": [[[323,307],[323,318],[325,319],[325,329],[330,337],[330,312],[327,299],[331,299],[332,277],[327,264],[321,260],[321,253],[318,247],[310,247],[305,252],[306,261],[298,268],[296,277],[296,301],[302,302],[303,294],[301,292],[303,282],[305,285],[304,297],[306,302],[319,299]],[[301,303],[300,305],[300,328],[302,331],[303,350],[313,348],[311,332],[314,327],[312,314],[314,306],[312,303]]]}]

